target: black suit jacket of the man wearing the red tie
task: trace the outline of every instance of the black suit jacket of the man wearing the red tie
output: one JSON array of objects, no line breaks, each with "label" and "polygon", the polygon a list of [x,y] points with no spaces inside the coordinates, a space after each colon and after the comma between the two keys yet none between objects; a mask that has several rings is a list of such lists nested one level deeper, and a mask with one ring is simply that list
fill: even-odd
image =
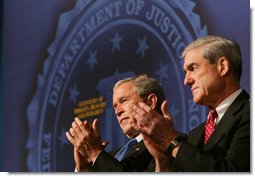
[{"label": "black suit jacket of the man wearing the red tie", "polygon": [[243,91],[228,108],[209,141],[204,125],[180,145],[173,171],[250,171],[250,102]]}]

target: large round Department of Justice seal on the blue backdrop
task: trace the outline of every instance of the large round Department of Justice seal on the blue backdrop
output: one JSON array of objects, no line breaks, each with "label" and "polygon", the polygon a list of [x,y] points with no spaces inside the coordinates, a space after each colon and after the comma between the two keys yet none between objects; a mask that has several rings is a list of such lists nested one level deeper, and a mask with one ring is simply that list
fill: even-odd
[{"label": "large round Department of Justice seal on the blue backdrop", "polygon": [[74,116],[99,118],[106,150],[126,142],[112,108],[112,87],[146,73],[163,86],[180,131],[205,120],[206,110],[183,85],[181,53],[207,34],[188,0],[78,0],[61,15],[56,39],[28,106],[29,171],[73,171],[65,137]]}]

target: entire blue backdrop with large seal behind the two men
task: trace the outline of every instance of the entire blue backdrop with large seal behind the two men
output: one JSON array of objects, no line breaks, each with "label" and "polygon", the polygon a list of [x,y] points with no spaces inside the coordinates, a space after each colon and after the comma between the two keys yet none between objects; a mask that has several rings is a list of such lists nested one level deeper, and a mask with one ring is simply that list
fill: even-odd
[{"label": "entire blue backdrop with large seal behind the two men", "polygon": [[162,84],[188,133],[207,109],[183,86],[180,55],[200,36],[240,43],[250,92],[248,0],[5,0],[2,14],[0,171],[73,171],[74,116],[99,118],[107,151],[123,145],[112,87],[135,74]]}]

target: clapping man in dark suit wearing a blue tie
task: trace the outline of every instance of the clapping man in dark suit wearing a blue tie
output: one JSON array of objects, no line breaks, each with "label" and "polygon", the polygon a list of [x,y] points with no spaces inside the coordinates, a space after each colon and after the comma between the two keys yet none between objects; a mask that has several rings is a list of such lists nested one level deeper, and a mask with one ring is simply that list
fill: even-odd
[{"label": "clapping man in dark suit wearing a blue tie", "polygon": [[107,142],[101,141],[98,119],[90,125],[78,118],[72,123],[68,140],[74,145],[74,159],[77,171],[121,172],[154,171],[153,157],[146,149],[142,135],[136,129],[136,120],[129,114],[130,106],[143,102],[151,109],[161,112],[165,100],[163,89],[156,80],[140,75],[117,82],[113,88],[113,108],[123,133],[138,143],[133,145],[124,157],[117,151],[104,151]]}]

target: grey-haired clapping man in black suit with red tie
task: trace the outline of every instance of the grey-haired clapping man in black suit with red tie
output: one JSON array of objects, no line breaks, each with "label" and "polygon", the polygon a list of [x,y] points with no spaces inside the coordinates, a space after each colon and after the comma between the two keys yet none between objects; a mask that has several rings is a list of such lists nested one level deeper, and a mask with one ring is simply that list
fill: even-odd
[{"label": "grey-haired clapping man in black suit with red tie", "polygon": [[240,87],[239,44],[205,36],[189,44],[183,57],[184,84],[193,101],[212,113],[185,137],[175,130],[166,102],[163,116],[143,103],[133,105],[130,113],[141,125],[137,129],[155,158],[156,171],[249,172],[250,97]]}]

